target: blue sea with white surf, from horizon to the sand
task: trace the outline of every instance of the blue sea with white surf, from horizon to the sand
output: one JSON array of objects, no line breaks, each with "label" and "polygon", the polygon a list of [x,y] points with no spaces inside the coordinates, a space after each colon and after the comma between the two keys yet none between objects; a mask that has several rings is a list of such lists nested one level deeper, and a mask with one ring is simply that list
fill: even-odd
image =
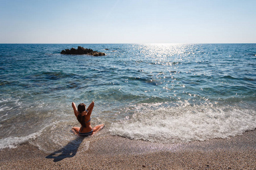
[{"label": "blue sea with white surf, from horizon to the sand", "polygon": [[[77,46],[106,56],[60,54]],[[72,101],[95,102],[98,136],[229,138],[256,128],[255,94],[256,44],[0,44],[0,149],[64,147]]]}]

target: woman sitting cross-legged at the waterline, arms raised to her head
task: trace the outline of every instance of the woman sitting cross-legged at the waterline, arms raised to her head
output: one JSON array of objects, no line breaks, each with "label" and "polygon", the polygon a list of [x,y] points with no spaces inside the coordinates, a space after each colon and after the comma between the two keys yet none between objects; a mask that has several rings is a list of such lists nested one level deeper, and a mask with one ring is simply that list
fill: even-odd
[{"label": "woman sitting cross-legged at the waterline, arms raised to her head", "polygon": [[100,131],[104,125],[97,125],[94,128],[90,125],[90,114],[92,114],[92,110],[94,107],[94,102],[92,102],[89,107],[85,110],[85,104],[81,103],[78,105],[76,109],[76,104],[72,103],[72,107],[74,109],[75,116],[79,123],[81,124],[81,128],[79,127],[73,127],[72,131],[75,134],[79,135],[91,135],[96,134],[98,131]]}]

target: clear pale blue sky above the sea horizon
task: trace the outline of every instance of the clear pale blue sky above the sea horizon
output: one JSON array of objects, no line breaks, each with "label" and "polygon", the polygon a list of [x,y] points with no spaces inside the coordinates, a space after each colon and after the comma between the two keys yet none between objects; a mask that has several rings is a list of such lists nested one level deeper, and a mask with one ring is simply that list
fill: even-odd
[{"label": "clear pale blue sky above the sea horizon", "polygon": [[256,43],[255,0],[0,0],[0,43]]}]

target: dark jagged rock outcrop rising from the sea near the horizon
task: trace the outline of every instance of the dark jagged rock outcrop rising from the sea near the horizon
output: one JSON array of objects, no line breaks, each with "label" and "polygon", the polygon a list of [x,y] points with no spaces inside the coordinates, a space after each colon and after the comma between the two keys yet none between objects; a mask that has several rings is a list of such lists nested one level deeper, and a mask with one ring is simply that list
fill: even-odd
[{"label": "dark jagged rock outcrop rising from the sea near the horizon", "polygon": [[92,49],[83,48],[81,46],[78,46],[77,49],[71,48],[70,50],[69,49],[62,50],[60,54],[76,54],[76,55],[87,54],[91,56],[106,56],[105,53],[96,52]]}]

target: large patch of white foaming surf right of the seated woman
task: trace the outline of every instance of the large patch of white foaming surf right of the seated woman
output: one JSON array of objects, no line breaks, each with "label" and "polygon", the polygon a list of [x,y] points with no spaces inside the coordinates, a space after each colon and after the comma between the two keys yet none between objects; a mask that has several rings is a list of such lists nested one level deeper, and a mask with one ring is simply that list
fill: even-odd
[{"label": "large patch of white foaming surf right of the seated woman", "polygon": [[151,142],[204,141],[254,130],[254,115],[254,110],[231,106],[139,104],[131,118],[113,123],[110,133]]}]

